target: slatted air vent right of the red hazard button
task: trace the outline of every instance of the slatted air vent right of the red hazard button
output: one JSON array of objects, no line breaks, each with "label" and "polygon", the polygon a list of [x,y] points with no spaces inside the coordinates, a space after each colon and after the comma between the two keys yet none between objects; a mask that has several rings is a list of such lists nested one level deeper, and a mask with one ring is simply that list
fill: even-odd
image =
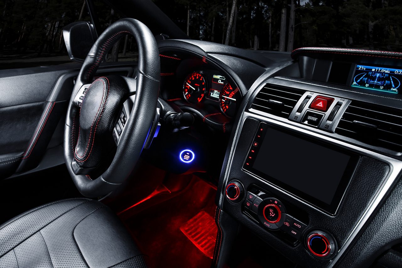
[{"label": "slatted air vent right of the red hazard button", "polygon": [[365,143],[402,151],[402,110],[353,100],[335,130]]}]

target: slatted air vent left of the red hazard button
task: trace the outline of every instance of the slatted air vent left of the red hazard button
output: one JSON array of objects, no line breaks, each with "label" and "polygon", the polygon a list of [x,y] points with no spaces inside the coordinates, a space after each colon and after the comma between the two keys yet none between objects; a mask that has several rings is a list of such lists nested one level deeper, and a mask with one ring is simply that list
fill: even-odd
[{"label": "slatted air vent left of the red hazard button", "polygon": [[251,108],[264,113],[288,118],[304,91],[266,84],[251,104]]}]

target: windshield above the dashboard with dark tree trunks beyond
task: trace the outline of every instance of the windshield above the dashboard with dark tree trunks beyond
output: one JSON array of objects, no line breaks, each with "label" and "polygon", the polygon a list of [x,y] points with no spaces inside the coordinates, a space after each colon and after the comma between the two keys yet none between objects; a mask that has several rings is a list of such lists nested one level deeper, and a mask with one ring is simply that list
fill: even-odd
[{"label": "windshield above the dashboard with dark tree trunks beyond", "polygon": [[401,0],[154,0],[191,39],[244,49],[402,51]]}]

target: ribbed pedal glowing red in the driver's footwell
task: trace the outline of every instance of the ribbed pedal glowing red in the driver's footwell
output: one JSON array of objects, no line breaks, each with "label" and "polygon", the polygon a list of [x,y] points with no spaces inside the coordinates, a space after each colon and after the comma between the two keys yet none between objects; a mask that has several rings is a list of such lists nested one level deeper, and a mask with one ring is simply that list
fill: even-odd
[{"label": "ribbed pedal glowing red in the driver's footwell", "polygon": [[188,239],[209,258],[213,258],[218,228],[215,220],[205,211],[199,212],[180,227]]}]

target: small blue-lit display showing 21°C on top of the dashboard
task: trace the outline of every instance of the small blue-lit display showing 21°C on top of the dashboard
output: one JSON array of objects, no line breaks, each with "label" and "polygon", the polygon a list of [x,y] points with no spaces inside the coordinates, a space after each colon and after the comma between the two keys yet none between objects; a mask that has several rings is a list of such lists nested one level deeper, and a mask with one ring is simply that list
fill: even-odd
[{"label": "small blue-lit display showing 21\u00b0C on top of the dashboard", "polygon": [[402,81],[402,69],[356,65],[352,87],[398,94]]}]

